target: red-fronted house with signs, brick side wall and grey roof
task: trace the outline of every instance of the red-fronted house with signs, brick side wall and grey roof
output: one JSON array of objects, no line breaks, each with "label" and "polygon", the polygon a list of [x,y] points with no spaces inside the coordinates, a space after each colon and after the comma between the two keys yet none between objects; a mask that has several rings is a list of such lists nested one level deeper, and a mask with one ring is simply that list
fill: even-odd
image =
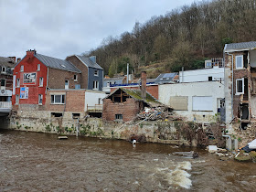
[{"label": "red-fronted house with signs, brick side wall and grey roof", "polygon": [[[68,60],[55,59],[28,50],[27,55],[16,64],[13,73],[14,91],[12,104],[45,105],[49,89],[79,89],[80,69]],[[53,97],[61,103],[64,98]]]}]

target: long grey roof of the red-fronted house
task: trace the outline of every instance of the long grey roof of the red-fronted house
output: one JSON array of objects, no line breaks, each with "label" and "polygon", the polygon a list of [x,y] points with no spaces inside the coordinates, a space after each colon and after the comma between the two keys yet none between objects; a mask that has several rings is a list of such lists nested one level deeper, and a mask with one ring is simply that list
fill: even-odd
[{"label": "long grey roof of the red-fronted house", "polygon": [[44,56],[44,55],[41,55],[41,54],[38,54],[38,53],[35,54],[35,57],[37,59],[39,59],[48,68],[68,70],[68,71],[71,71],[71,72],[81,73],[80,69],[75,67],[68,60],[51,58],[51,57]]}]

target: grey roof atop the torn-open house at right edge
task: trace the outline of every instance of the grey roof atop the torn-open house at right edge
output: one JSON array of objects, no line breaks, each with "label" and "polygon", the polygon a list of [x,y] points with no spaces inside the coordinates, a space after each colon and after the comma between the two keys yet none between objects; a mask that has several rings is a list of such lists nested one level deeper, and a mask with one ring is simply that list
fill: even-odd
[{"label": "grey roof atop the torn-open house at right edge", "polygon": [[235,50],[249,50],[256,48],[256,41],[251,42],[241,42],[241,43],[230,43],[225,45],[225,52],[235,51]]}]

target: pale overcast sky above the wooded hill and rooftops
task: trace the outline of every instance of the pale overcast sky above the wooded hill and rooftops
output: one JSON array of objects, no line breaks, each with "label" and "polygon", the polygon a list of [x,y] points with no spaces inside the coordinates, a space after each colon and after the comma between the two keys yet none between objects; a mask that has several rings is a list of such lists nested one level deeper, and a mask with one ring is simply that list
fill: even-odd
[{"label": "pale overcast sky above the wooded hill and rooftops", "polygon": [[0,56],[23,58],[36,48],[65,59],[193,2],[198,0],[0,0]]}]

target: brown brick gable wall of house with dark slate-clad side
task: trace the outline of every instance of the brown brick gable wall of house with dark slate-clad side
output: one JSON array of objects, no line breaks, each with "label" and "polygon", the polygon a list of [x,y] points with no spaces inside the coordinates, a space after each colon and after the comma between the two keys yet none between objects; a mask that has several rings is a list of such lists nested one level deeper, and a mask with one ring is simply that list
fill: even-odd
[{"label": "brown brick gable wall of house with dark slate-clad side", "polygon": [[88,88],[88,68],[84,65],[80,59],[76,56],[70,56],[67,58],[74,66],[76,66],[81,71],[80,75],[80,88],[87,89]]}]

